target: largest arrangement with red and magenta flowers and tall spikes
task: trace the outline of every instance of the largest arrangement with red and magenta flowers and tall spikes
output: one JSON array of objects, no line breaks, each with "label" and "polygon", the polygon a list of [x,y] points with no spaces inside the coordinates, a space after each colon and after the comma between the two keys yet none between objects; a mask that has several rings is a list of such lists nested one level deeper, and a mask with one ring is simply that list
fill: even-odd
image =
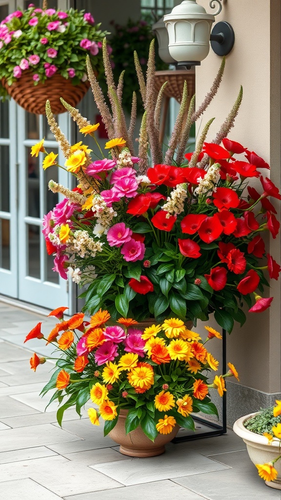
[{"label": "largest arrangement with red and magenta flowers and tall spikes", "polygon": [[[250,312],[265,310],[272,297],[262,297],[267,278],[281,270],[266,253],[262,234],[276,237],[279,222],[269,200],[281,199],[267,177],[269,165],[255,152],[227,138],[241,102],[239,95],[213,142],[205,142],[210,120],[193,153],[184,154],[192,122],[200,116],[219,85],[218,75],[198,110],[194,97],[186,113],[187,89],[174,130],[163,157],[158,141],[161,97],[154,91],[154,58],[151,44],[146,83],[138,58],[136,70],[145,112],[139,134],[138,155],[133,149],[135,97],[131,121],[126,128],[121,108],[122,80],[117,87],[103,43],[105,73],[112,115],[93,74],[88,76],[107,128],[109,157],[90,156],[82,141],[70,145],[51,113],[46,115],[66,158],[66,168],[77,179],[72,191],[50,181],[49,188],[65,197],[44,216],[47,250],[54,257],[54,270],[70,276],[87,289],[84,310],[100,307],[111,317],[120,314],[136,320],[172,314],[182,320],[207,320],[214,313],[217,323],[231,331],[234,320],[242,324],[246,303]],[[98,123],[90,124],[63,101],[84,135],[94,140]],[[223,145],[220,145],[222,142]],[[150,146],[148,157],[148,144]],[[46,156],[43,168],[56,163],[43,140],[32,153]],[[238,156],[236,156],[238,155]],[[241,155],[242,158],[241,158]],[[262,172],[265,172],[261,174]],[[255,178],[257,189],[249,185]],[[253,304],[252,304],[253,299]]]}]

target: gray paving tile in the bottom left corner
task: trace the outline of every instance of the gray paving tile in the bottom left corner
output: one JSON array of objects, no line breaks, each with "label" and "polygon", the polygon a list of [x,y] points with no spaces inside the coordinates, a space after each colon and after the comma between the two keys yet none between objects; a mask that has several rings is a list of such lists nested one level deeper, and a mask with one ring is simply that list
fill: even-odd
[{"label": "gray paving tile in the bottom left corner", "polygon": [[0,500],[30,500],[30,498],[61,500],[60,496],[32,481],[29,477],[1,482]]}]

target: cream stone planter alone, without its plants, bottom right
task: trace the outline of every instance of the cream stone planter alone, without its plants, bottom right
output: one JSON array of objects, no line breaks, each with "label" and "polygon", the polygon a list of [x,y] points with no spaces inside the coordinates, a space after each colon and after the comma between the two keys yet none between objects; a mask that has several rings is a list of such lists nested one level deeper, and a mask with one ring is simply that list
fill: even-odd
[{"label": "cream stone planter alone, without its plants, bottom right", "polygon": [[[268,443],[265,436],[256,434],[251,430],[246,429],[243,423],[251,416],[257,413],[249,413],[248,415],[238,418],[234,422],[233,430],[235,434],[243,439],[247,446],[247,452],[251,461],[254,464],[267,463],[277,458],[281,453],[279,452],[279,443],[273,441],[272,444]],[[281,489],[281,459],[274,463],[274,468],[278,471],[278,476],[274,481],[264,481],[267,486],[275,489]]]}]

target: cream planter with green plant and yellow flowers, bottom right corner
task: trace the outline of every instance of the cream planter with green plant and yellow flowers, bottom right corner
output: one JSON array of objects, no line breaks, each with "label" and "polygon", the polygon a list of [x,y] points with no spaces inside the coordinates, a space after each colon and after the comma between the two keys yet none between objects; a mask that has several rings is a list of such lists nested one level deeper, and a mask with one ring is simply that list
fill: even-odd
[{"label": "cream planter with green plant and yellow flowers, bottom right corner", "polygon": [[281,401],[242,416],[233,430],[246,443],[251,461],[267,486],[281,489]]}]

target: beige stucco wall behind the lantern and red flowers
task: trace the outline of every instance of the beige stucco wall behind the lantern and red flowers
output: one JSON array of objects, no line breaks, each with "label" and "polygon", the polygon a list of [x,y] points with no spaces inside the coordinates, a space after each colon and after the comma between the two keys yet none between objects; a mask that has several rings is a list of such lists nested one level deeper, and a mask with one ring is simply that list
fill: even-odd
[{"label": "beige stucco wall behind the lantern and red flowers", "polygon": [[[208,2],[197,2],[210,11]],[[262,174],[270,175],[280,186],[280,1],[224,0],[217,20],[232,25],[235,44],[226,57],[218,93],[203,116],[203,124],[215,116],[207,140],[214,138],[242,85],[242,104],[228,136],[269,162],[270,173],[266,170]],[[197,105],[219,64],[220,57],[210,49],[196,68]],[[279,202],[271,201],[280,219]],[[280,236],[270,239],[268,251],[280,262]],[[271,289],[265,292],[274,296],[271,307],[263,313],[247,314],[244,326],[237,325],[227,338],[227,358],[239,370],[240,383],[267,393],[280,391],[280,281],[271,281]]]}]

